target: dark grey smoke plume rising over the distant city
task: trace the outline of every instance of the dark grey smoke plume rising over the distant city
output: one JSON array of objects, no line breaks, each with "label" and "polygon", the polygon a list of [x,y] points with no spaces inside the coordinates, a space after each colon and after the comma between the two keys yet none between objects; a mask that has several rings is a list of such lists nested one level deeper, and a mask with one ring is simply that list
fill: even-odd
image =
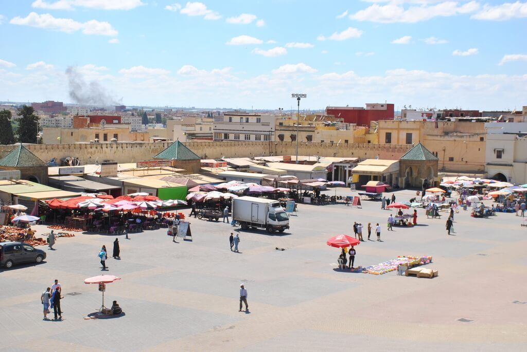
[{"label": "dark grey smoke plume rising over the distant city", "polygon": [[76,67],[66,68],[70,98],[83,105],[119,105],[120,101],[106,92],[103,86],[95,81],[86,82]]}]

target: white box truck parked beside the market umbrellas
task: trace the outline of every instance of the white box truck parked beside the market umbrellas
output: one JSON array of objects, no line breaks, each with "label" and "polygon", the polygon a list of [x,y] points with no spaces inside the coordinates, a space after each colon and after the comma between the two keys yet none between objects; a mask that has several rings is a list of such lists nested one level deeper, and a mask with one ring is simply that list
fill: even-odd
[{"label": "white box truck parked beside the market umbrellas", "polygon": [[238,197],[232,199],[232,219],[240,223],[243,230],[265,228],[268,233],[284,232],[289,228],[289,217],[277,200]]}]

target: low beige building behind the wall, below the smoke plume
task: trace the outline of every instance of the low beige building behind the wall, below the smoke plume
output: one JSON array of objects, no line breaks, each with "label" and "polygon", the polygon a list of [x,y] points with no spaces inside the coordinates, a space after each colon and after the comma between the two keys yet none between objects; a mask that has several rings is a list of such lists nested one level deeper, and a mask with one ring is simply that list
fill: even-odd
[{"label": "low beige building behind the wall, below the smoke plume", "polygon": [[112,127],[43,128],[43,144],[74,144],[106,142],[148,142],[148,132],[130,132],[129,125],[112,124]]}]

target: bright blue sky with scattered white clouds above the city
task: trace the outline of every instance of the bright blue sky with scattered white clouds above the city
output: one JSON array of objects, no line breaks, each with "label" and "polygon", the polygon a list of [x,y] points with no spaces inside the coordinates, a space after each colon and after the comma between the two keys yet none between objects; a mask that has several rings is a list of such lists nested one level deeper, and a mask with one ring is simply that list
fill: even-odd
[{"label": "bright blue sky with scattered white clouds above the city", "polygon": [[0,100],[527,105],[527,1],[1,0]]}]

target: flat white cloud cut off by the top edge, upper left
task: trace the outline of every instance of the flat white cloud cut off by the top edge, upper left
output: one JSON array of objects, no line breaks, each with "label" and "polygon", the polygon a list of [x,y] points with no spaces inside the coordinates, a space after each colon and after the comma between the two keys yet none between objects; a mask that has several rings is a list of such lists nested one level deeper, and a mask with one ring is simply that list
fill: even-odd
[{"label": "flat white cloud cut off by the top edge, upper left", "polygon": [[145,5],[141,0],[58,0],[47,2],[35,0],[31,7],[50,10],[69,10],[74,7],[95,8],[102,10],[130,10]]}]

